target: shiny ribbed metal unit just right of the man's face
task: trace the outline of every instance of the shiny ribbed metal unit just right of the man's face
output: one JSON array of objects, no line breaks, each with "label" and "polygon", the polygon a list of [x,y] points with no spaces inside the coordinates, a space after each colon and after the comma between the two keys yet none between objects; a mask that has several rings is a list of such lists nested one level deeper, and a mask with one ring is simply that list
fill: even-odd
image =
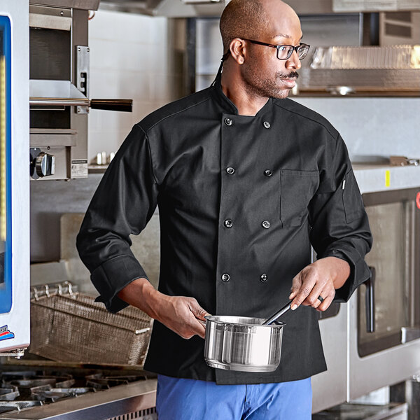
[{"label": "shiny ribbed metal unit just right of the man's face", "polygon": [[420,45],[317,47],[307,58],[300,94],[420,95]]}]

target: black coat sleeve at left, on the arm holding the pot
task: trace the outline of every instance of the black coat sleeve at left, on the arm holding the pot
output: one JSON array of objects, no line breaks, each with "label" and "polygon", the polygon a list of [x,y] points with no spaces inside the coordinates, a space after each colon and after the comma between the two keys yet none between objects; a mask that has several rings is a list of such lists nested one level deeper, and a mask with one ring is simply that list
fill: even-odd
[{"label": "black coat sleeve at left, on the arm holding the pot", "polygon": [[134,125],[92,198],[76,244],[100,293],[98,300],[110,311],[127,306],[117,296],[121,289],[139,277],[147,279],[130,250],[130,235],[144,229],[155,211],[157,196],[148,139]]}]

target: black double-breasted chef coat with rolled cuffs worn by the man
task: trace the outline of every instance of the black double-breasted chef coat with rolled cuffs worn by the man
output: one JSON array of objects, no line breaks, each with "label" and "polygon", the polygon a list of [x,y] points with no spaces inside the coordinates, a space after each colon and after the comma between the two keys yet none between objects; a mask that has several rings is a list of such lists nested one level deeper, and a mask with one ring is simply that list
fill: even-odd
[{"label": "black double-breasted chef coat with rolled cuffs worn by the man", "polygon": [[[346,146],[327,120],[290,99],[269,99],[239,116],[216,84],[134,125],[94,194],[78,235],[80,257],[110,311],[117,293],[147,277],[130,234],[158,204],[159,290],[197,298],[214,315],[272,315],[311,262],[336,256],[351,274],[344,302],[370,272],[371,235]],[[208,367],[204,340],[183,339],[155,321],[145,369],[173,377],[252,384],[291,381],[326,369],[315,309],[283,316],[275,372]]]}]

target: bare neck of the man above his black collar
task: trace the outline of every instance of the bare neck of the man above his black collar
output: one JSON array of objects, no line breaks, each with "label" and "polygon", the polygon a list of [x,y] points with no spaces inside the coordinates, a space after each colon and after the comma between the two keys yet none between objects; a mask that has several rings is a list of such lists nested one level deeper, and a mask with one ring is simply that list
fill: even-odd
[{"label": "bare neck of the man above his black collar", "polygon": [[240,116],[255,116],[267,104],[268,98],[250,94],[244,81],[228,65],[223,66],[221,85],[223,93],[235,104]]}]

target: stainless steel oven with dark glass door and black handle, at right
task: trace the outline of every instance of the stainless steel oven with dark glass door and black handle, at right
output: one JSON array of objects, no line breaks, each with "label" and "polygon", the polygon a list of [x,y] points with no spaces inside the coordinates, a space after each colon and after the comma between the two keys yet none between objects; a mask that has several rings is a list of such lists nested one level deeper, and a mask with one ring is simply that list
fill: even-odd
[{"label": "stainless steel oven with dark glass door and black handle, at right", "polygon": [[420,371],[420,168],[354,165],[374,243],[370,282],[319,325],[328,370],[313,412]]}]

